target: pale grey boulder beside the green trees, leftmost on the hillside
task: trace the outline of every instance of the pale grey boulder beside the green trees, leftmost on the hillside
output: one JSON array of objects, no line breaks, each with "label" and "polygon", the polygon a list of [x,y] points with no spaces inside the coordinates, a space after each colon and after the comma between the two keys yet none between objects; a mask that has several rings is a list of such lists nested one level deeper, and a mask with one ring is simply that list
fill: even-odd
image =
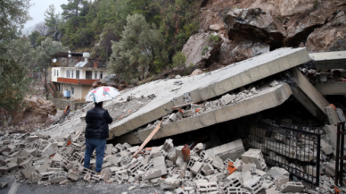
[{"label": "pale grey boulder beside the green trees, leftmost on the hillside", "polygon": [[211,36],[217,36],[211,33],[197,33],[191,36],[183,47],[183,53],[186,56],[185,66],[204,67],[204,64],[215,54],[221,46],[223,39],[218,41],[211,40]]}]

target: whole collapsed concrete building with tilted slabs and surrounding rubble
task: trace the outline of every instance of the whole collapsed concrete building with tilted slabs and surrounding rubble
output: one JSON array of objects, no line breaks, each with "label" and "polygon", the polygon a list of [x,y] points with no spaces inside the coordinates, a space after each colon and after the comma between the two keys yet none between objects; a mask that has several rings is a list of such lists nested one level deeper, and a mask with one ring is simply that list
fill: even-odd
[{"label": "whole collapsed concrete building with tilted slabs and surrounding rubble", "polygon": [[[93,105],[62,124],[4,136],[0,173],[19,170],[18,180],[29,183],[103,180],[138,187],[160,185],[175,193],[302,192],[308,191],[307,182],[319,186],[309,193],[334,192],[336,185],[328,176],[335,176],[336,124],[345,119],[342,109],[334,109],[310,80],[324,79],[324,73],[316,73],[320,69],[343,68],[346,52],[335,53],[281,48],[214,72],[156,80],[122,91],[104,105],[113,118],[109,140],[115,146],[106,147],[101,176],[82,165],[84,118]],[[278,74],[283,79],[277,80]],[[328,84],[337,89],[341,82]],[[278,125],[270,120],[245,123],[249,126],[245,139],[236,139],[235,134],[234,140],[215,147],[200,142],[175,147],[168,139],[266,111],[292,97],[322,127],[292,127],[291,122]],[[160,124],[160,130],[152,133]],[[164,144],[139,149],[148,137],[164,139]],[[95,159],[92,164],[95,168]]]}]

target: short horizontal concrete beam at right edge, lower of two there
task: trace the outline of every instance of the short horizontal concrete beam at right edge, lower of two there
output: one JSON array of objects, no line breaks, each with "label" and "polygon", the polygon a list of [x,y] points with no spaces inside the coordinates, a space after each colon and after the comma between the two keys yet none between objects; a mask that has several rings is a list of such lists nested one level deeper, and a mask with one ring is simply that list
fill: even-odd
[{"label": "short horizontal concrete beam at right edge, lower of two there", "polygon": [[315,88],[322,95],[346,95],[345,82],[317,83]]}]

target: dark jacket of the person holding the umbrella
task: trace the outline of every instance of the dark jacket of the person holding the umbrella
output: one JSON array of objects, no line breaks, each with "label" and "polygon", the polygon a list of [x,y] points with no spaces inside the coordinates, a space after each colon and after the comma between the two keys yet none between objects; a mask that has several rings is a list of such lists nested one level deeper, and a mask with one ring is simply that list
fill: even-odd
[{"label": "dark jacket of the person holding the umbrella", "polygon": [[86,138],[107,139],[109,138],[108,124],[113,122],[108,111],[102,106],[95,106],[86,113]]}]

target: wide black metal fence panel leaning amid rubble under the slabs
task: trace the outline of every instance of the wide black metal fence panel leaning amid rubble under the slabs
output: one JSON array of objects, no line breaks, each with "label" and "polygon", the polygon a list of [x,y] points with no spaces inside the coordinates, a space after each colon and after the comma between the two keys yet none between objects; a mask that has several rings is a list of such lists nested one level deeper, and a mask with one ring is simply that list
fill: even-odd
[{"label": "wide black metal fence panel leaning amid rubble under the slabs", "polygon": [[268,165],[282,167],[318,186],[321,139],[318,128],[291,129],[261,122],[248,127],[247,148],[260,149]]}]

